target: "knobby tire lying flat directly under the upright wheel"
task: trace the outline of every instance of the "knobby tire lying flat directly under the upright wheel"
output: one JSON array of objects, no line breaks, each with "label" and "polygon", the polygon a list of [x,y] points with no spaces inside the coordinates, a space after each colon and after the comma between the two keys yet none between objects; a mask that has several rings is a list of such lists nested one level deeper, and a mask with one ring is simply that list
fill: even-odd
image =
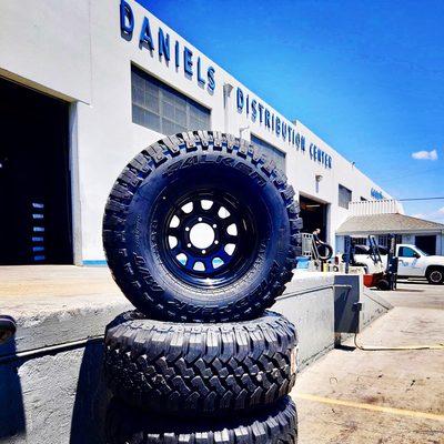
[{"label": "knobby tire lying flat directly under the upright wheel", "polygon": [[273,312],[231,324],[128,312],[107,330],[105,377],[114,395],[137,407],[181,416],[242,412],[290,393],[296,342],[294,325]]}]

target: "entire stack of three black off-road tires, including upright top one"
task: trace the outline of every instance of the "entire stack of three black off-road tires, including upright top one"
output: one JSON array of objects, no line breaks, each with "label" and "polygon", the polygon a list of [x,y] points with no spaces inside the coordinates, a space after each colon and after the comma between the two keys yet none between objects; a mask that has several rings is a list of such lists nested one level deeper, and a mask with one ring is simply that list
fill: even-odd
[{"label": "entire stack of three black off-road tires, including upright top one", "polygon": [[296,443],[296,332],[266,310],[299,255],[293,196],[255,145],[212,131],[122,171],[103,240],[137,310],[105,332],[109,443]]}]

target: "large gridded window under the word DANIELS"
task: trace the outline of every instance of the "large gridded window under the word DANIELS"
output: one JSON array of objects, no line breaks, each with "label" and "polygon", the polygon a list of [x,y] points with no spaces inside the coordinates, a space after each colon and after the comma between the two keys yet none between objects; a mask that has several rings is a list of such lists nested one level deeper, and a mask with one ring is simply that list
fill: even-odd
[{"label": "large gridded window under the word DANIELS", "polygon": [[131,67],[132,121],[162,134],[210,130],[210,110]]}]

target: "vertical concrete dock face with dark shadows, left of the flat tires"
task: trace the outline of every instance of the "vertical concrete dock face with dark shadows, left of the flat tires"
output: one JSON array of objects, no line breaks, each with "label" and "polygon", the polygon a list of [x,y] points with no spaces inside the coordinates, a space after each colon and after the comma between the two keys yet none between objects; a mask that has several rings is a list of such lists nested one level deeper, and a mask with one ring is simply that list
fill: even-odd
[{"label": "vertical concrete dock face with dark shadows, left of the flat tires", "polygon": [[102,354],[102,342],[92,341],[0,364],[0,443],[103,443]]}]

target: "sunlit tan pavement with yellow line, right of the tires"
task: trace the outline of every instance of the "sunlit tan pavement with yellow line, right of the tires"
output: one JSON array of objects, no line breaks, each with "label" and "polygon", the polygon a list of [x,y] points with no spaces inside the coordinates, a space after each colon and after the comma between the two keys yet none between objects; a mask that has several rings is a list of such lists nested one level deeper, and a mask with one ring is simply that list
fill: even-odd
[{"label": "sunlit tan pavement with yellow line, right of the tires", "polygon": [[[398,283],[394,309],[362,346],[444,343],[444,286]],[[362,351],[353,339],[303,372],[293,391],[300,444],[444,443],[444,350]]]}]

